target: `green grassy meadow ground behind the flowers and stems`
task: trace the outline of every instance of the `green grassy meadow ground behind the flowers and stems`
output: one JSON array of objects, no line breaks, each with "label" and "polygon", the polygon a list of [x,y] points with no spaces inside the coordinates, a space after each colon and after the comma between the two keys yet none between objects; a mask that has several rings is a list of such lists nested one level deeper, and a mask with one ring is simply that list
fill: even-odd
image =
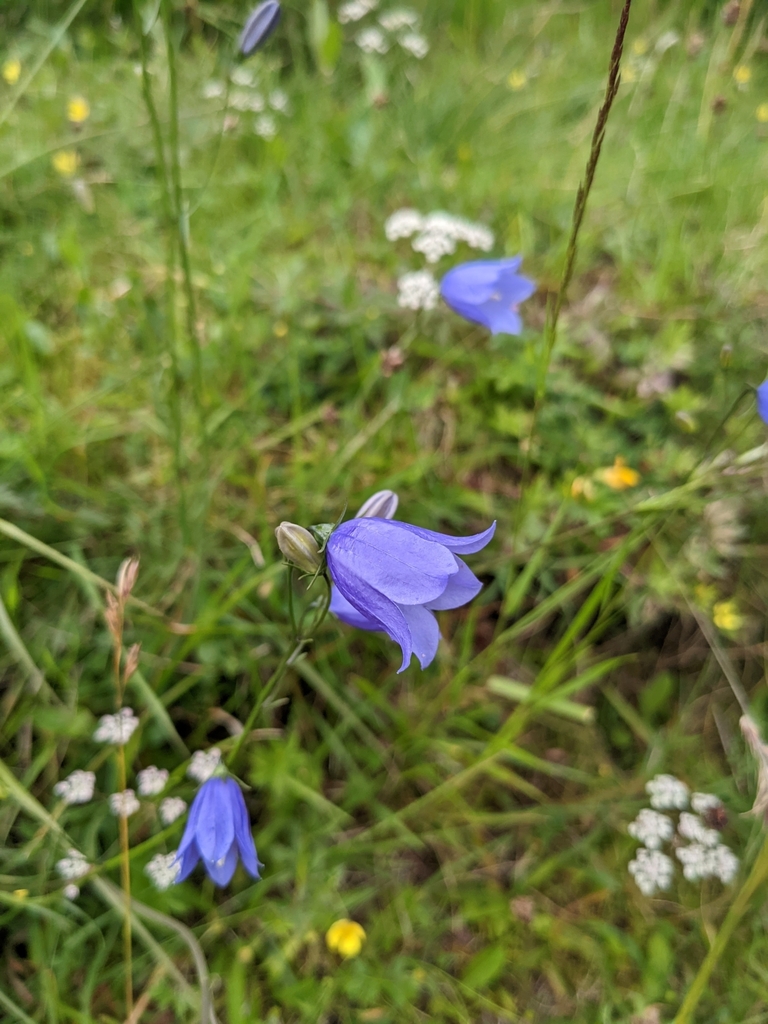
[{"label": "green grassy meadow ground behind the flowers and stems", "polygon": [[[125,1018],[112,890],[86,884],[70,903],[54,869],[77,843],[119,881],[106,804],[118,769],[90,738],[115,699],[92,573],[112,581],[128,554],[141,559],[145,603],[126,627],[142,645],[131,784],[139,767],[174,770],[185,752],[226,743],[286,650],[275,525],[335,521],[381,487],[430,528],[499,520],[473,562],[482,595],[442,614],[424,673],[396,675],[390,642],[328,621],[242,764],[263,881],[238,874],[222,892],[196,874],[155,892],[142,867],[175,849],[183,822],[162,830],[147,802],[130,819],[134,896],[191,929],[228,1024],[672,1019],[762,842],[741,815],[755,768],[724,675],[768,726],[765,428],[749,394],[733,409],[768,356],[756,6],[736,45],[740,28],[715,11],[633,11],[530,444],[545,310],[615,4],[449,12],[435,0],[423,60],[362,59],[347,26],[338,54],[333,35],[323,50],[325,73],[310,5],[297,5],[247,66],[289,97],[271,140],[249,113],[222,131],[225,97],[203,95],[226,79],[245,9],[178,12],[194,308],[128,10],[80,16],[56,42],[62,5],[12,23],[8,8],[18,85],[55,45],[15,104],[18,85],[0,91],[7,1019]],[[170,160],[162,22],[147,38]],[[67,120],[74,95],[90,104],[80,129]],[[68,176],[52,159],[70,151]],[[482,221],[495,255],[523,254],[539,292],[521,338],[488,339],[444,307],[397,308],[397,275],[421,266],[384,237],[401,206]],[[636,485],[604,482],[616,457]],[[532,685],[538,701],[521,708],[498,677]],[[61,808],[53,784],[88,767],[96,800]],[[659,771],[724,800],[724,839],[742,860],[732,885],[678,873],[669,892],[639,893],[627,824]],[[182,776],[175,792],[189,800]],[[345,916],[368,941],[342,962],[324,936]],[[768,1021],[767,924],[759,894],[700,1020]],[[183,936],[144,922],[133,955],[141,1020],[199,1019]]]}]

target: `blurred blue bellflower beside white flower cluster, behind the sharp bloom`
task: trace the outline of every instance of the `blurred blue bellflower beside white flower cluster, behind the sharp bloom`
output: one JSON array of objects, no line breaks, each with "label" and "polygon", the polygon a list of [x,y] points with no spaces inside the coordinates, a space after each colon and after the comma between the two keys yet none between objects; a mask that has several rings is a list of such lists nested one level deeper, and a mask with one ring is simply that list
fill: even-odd
[{"label": "blurred blue bellflower beside white flower cluster, behind the sharp bloom", "polygon": [[521,262],[522,256],[460,263],[440,282],[440,295],[460,316],[492,334],[519,334],[517,307],[536,291],[532,281],[517,273]]}]

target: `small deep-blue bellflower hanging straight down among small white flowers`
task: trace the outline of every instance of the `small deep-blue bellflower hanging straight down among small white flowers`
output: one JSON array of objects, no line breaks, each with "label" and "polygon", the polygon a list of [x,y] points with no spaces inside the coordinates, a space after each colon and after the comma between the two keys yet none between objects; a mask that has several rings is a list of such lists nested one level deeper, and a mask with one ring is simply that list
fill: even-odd
[{"label": "small deep-blue bellflower hanging straight down among small white flowers", "polygon": [[217,886],[226,886],[234,874],[240,853],[243,866],[259,878],[259,859],[251,835],[246,802],[233,778],[214,776],[204,782],[189,809],[181,844],[177,882],[183,882],[199,860]]}]

